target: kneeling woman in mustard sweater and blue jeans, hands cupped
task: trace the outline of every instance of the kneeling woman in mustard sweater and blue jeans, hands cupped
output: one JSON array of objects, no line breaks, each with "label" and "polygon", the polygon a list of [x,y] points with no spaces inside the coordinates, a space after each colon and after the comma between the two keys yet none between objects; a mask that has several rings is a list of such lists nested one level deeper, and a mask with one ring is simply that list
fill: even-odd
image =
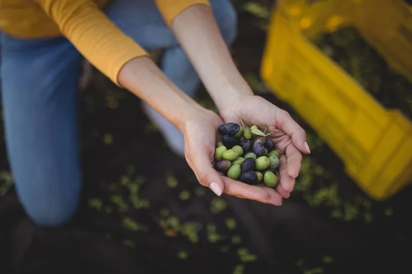
[{"label": "kneeling woman in mustard sweater and blue jeans, hands cupped", "polygon": [[[82,57],[142,99],[170,147],[216,195],[279,206],[293,190],[301,153],[310,153],[306,134],[287,112],[253,95],[236,69],[229,0],[0,0],[0,18],[8,157],[19,199],[38,225],[64,225],[78,208]],[[161,69],[147,53],[157,47],[166,48]],[[192,99],[201,80],[219,116]],[[276,190],[213,169],[216,128],[239,119],[267,125],[284,153]]]}]

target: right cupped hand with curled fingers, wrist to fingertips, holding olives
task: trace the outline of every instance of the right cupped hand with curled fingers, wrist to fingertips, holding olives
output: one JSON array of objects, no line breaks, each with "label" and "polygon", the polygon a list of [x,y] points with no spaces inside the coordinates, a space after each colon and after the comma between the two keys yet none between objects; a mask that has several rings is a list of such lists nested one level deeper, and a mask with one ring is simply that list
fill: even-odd
[{"label": "right cupped hand with curled fingers, wrist to fingertips, holding olives", "polygon": [[[281,153],[279,158],[280,182],[277,192],[288,198],[295,187],[295,178],[301,168],[301,153],[310,153],[306,142],[306,132],[290,117],[288,112],[256,95],[242,95],[233,99],[227,108],[220,111],[225,123],[243,121],[245,124],[257,125],[266,132],[271,132],[267,138],[275,142],[275,147]],[[258,187],[253,191],[258,191]],[[264,187],[263,187],[264,188]],[[251,196],[250,188],[242,190],[243,195]],[[260,190],[259,190],[260,191]]]}]

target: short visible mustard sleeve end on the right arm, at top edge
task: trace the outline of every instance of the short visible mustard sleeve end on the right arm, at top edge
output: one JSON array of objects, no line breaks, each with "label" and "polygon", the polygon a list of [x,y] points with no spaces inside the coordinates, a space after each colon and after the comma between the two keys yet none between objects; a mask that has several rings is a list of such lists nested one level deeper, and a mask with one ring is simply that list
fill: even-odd
[{"label": "short visible mustard sleeve end on the right arm, at top edge", "polygon": [[155,3],[169,27],[179,13],[192,5],[206,5],[210,8],[209,0],[155,0]]}]

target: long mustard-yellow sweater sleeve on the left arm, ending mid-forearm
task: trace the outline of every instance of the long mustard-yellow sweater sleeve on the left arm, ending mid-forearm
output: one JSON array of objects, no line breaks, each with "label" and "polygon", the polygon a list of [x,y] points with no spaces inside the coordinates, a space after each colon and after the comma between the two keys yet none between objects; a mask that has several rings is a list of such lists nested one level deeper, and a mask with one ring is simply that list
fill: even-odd
[{"label": "long mustard-yellow sweater sleeve on the left arm, ending mid-forearm", "polygon": [[148,53],[126,36],[92,0],[37,0],[63,36],[117,86],[122,66]]}]

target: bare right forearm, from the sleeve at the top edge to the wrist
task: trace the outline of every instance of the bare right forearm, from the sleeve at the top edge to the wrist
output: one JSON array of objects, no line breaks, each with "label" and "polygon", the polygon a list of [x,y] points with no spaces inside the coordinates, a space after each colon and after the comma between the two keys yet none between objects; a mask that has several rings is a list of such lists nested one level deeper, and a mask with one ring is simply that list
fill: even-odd
[{"label": "bare right forearm, from the sleeve at the top edge to the wrist", "polygon": [[219,110],[240,95],[253,95],[231,58],[210,8],[187,8],[174,18],[172,30]]}]

